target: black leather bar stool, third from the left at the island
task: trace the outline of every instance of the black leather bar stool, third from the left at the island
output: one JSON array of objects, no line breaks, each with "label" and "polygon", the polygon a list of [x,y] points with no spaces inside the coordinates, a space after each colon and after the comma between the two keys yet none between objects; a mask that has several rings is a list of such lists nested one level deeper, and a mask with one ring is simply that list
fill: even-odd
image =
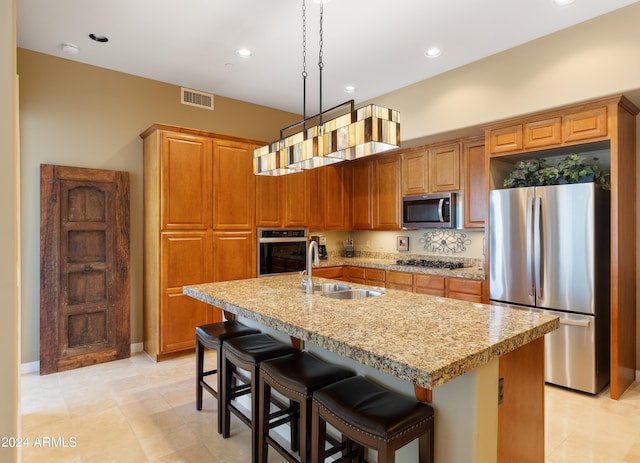
[{"label": "black leather bar stool, third from the left at the island", "polygon": [[[262,362],[258,461],[267,463],[269,445],[288,461],[310,461],[313,391],[354,375],[351,370],[327,363],[308,352],[298,352]],[[289,407],[271,413],[272,390],[288,399]],[[299,460],[269,434],[271,429],[285,423],[291,425],[291,451],[299,450]]]}]

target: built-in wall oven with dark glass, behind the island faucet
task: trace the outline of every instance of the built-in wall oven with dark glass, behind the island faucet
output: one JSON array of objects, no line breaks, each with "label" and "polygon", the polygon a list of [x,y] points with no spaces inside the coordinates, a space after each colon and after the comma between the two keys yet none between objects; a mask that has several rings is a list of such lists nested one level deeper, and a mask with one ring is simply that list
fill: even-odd
[{"label": "built-in wall oven with dark glass, behind the island faucet", "polygon": [[305,270],[307,241],[306,228],[259,228],[258,276]]}]

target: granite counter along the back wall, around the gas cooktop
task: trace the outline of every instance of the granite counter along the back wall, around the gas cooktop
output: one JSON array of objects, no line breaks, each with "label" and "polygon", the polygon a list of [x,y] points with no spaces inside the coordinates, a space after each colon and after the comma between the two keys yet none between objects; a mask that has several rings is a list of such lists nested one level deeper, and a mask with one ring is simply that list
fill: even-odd
[{"label": "granite counter along the back wall, around the gas cooktop", "polygon": [[[426,256],[421,256],[425,258]],[[434,260],[433,256],[429,256]],[[474,259],[478,260],[478,259]],[[431,267],[417,267],[414,265],[398,265],[396,259],[392,258],[372,258],[372,257],[335,257],[321,260],[319,267],[335,267],[340,265],[353,265],[355,267],[379,268],[383,270],[395,270],[397,272],[424,273],[427,275],[442,275],[446,277],[467,278],[470,280],[485,280],[484,268],[477,262],[472,262],[469,266],[457,269],[441,269]]]}]

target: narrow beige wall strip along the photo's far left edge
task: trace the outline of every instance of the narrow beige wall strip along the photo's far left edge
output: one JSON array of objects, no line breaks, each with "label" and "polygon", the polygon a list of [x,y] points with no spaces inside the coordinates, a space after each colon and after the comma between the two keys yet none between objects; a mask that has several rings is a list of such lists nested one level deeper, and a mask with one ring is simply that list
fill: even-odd
[{"label": "narrow beige wall strip along the photo's far left edge", "polygon": [[[18,292],[18,136],[15,0],[0,0],[0,436],[19,435],[20,313]],[[0,461],[17,461],[0,447]]]}]

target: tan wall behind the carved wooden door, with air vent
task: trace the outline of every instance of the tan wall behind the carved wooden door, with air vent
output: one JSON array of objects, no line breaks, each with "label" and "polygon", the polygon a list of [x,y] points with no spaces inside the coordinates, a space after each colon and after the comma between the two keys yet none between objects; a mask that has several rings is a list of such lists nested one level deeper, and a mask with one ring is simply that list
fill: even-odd
[{"label": "tan wall behind the carved wooden door, with air vent", "polygon": [[22,126],[22,362],[39,359],[40,164],[123,170],[131,182],[131,341],[142,342],[142,140],[154,122],[270,141],[298,116],[216,96],[180,104],[180,87],[18,50]]}]

